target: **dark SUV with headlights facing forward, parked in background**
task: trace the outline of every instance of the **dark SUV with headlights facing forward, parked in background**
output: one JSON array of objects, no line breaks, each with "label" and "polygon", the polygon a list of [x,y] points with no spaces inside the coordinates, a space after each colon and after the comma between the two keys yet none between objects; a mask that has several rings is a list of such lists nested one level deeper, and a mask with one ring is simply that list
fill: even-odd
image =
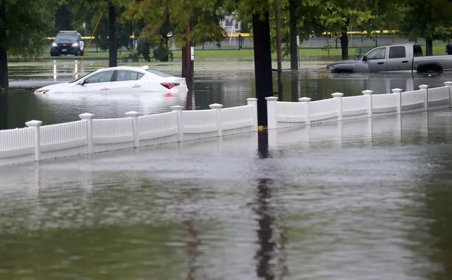
[{"label": "dark SUV with headlights facing forward, parked in background", "polygon": [[85,44],[77,31],[60,31],[52,42],[50,55],[83,55]]}]

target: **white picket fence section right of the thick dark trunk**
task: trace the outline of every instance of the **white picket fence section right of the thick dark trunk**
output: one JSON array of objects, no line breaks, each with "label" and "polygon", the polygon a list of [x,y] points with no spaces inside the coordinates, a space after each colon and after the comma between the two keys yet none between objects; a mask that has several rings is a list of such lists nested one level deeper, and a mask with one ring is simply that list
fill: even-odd
[{"label": "white picket fence section right of the thick dark trunk", "polygon": [[452,82],[431,89],[420,85],[412,92],[392,89],[391,94],[373,94],[364,90],[362,94],[343,97],[344,94],[336,92],[331,94],[333,98],[312,102],[307,97],[299,102],[279,102],[277,97],[267,97],[268,129],[452,107]]}]

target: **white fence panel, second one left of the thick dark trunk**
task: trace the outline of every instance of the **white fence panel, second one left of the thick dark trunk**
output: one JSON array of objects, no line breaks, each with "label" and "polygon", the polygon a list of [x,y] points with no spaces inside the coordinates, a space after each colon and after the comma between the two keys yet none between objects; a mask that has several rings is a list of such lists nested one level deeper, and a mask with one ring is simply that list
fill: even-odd
[{"label": "white fence panel, second one left of the thick dark trunk", "polygon": [[216,136],[216,113],[214,110],[182,111],[184,140]]}]

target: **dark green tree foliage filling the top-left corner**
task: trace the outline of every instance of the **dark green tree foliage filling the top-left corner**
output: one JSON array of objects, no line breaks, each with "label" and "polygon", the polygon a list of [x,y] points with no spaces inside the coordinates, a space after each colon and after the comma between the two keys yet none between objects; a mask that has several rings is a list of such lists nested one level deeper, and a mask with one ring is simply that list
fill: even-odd
[{"label": "dark green tree foliage filling the top-left corner", "polygon": [[45,36],[53,29],[51,20],[56,0],[6,1],[5,19],[0,18],[0,46],[9,55],[36,56],[45,44]]}]

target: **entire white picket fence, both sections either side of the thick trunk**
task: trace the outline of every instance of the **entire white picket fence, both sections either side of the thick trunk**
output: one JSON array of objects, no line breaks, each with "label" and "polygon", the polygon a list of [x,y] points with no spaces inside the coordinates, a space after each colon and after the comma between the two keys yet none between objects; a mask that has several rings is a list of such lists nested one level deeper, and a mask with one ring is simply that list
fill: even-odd
[{"label": "entire white picket fence, both sections either side of the thick trunk", "polygon": [[[452,107],[452,82],[444,87],[391,94],[343,97],[336,92],[333,98],[299,102],[278,102],[267,97],[268,129],[310,126],[326,122],[341,122],[377,115]],[[81,120],[42,126],[32,120],[26,128],[0,130],[0,165],[27,163],[49,158],[93,154],[148,145],[222,137],[258,131],[258,100],[247,99],[247,105],[223,109],[211,104],[210,110],[183,111],[181,106],[157,115],[140,115],[135,111],[125,117],[94,119],[91,113],[79,115]]]}]

